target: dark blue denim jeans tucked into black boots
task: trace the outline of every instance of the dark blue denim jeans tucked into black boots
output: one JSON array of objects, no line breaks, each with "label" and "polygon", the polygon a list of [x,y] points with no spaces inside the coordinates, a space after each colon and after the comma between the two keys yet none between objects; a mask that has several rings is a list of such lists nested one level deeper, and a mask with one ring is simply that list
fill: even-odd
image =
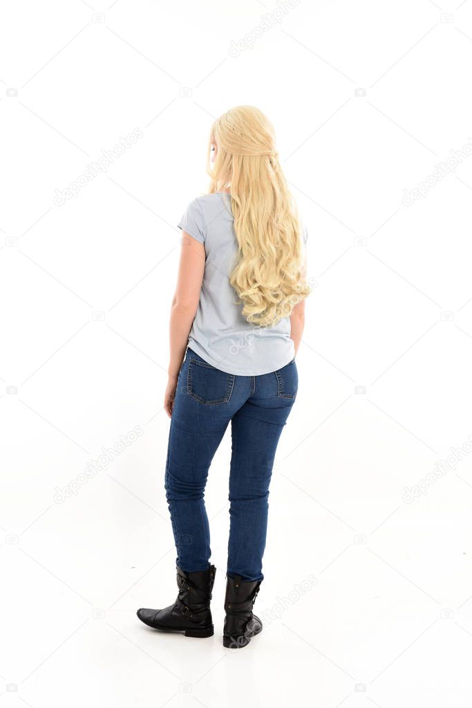
[{"label": "dark blue denim jeans tucked into black boots", "polygon": [[177,566],[209,566],[203,500],[208,469],[231,421],[229,576],[263,580],[269,484],[278,440],[297,395],[295,359],[259,376],[228,374],[187,348],[170,423],[165,492]]}]

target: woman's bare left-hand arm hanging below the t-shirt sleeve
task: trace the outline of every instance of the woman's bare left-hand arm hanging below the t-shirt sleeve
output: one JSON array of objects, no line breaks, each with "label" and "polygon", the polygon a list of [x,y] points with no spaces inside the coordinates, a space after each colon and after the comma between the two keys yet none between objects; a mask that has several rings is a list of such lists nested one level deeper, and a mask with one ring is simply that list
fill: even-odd
[{"label": "woman's bare left-hand arm hanging below the t-shirt sleeve", "polygon": [[184,360],[192,322],[199,306],[203,271],[205,270],[205,247],[182,231],[177,287],[170,311],[170,364],[169,380],[165,391],[164,408],[172,416],[172,404],[177,387],[177,377]]}]

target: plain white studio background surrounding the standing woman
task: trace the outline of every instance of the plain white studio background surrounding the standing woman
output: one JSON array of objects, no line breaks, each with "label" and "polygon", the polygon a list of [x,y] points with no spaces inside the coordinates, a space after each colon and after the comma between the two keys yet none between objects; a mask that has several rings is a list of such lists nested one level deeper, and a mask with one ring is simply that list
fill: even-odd
[{"label": "plain white studio background surrounding the standing woman", "polygon": [[[469,705],[472,156],[434,176],[472,142],[458,3],[2,3],[2,706]],[[229,430],[207,491],[215,635],[158,634],[135,612],[177,593],[162,408],[176,224],[207,188],[211,122],[239,104],[276,127],[314,287],[264,632],[230,651]]]}]

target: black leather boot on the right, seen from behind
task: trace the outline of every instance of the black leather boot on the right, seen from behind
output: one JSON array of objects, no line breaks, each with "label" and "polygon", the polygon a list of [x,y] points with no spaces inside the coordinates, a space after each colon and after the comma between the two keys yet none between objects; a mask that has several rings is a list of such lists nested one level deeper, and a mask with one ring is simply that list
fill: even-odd
[{"label": "black leather boot on the right, seen from behind", "polygon": [[241,576],[231,578],[227,575],[226,578],[223,646],[240,649],[262,631],[261,620],[252,613],[261,581],[242,580]]}]

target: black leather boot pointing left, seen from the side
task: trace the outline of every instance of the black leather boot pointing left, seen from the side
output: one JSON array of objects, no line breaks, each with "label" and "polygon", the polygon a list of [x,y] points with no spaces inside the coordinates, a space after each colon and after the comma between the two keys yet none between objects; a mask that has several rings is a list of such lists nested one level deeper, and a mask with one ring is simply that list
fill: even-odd
[{"label": "black leather boot pointing left, seen from the side", "polygon": [[212,636],[210,600],[216,568],[185,573],[177,566],[179,594],[173,605],[163,610],[141,607],[136,613],[141,622],[165,632],[185,632],[185,636]]}]

